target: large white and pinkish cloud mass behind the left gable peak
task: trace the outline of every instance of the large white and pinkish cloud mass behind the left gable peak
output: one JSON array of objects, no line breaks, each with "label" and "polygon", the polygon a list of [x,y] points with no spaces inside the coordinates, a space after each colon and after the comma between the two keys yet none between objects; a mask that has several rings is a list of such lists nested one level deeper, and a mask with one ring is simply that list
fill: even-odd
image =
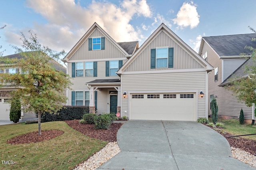
[{"label": "large white and pinkish cloud mass behind the left gable peak", "polygon": [[134,16],[152,16],[146,0],[123,0],[120,6],[92,0],[86,7],[75,0],[27,0],[26,5],[48,21],[34,23],[33,29],[42,44],[55,50],[70,50],[94,22],[117,42],[139,41],[142,32],[135,31],[129,22]]}]

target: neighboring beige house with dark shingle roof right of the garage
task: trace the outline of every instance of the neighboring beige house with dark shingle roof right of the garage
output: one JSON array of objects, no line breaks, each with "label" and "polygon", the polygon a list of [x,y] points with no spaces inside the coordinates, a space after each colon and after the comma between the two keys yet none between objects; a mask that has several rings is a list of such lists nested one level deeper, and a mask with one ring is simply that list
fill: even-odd
[{"label": "neighboring beige house with dark shingle roof right of the garage", "polygon": [[240,53],[251,53],[244,47],[246,45],[255,47],[256,41],[251,41],[255,37],[254,33],[202,37],[198,53],[214,67],[214,70],[208,73],[209,115],[211,114],[210,101],[215,96],[218,104],[218,117],[238,119],[242,108],[244,118],[248,123],[254,119],[254,107],[247,107],[238,102],[236,96],[232,95],[232,91],[224,86],[228,84],[226,79],[230,78],[233,72],[238,76],[244,76],[242,64],[247,61],[247,58],[242,58]]}]

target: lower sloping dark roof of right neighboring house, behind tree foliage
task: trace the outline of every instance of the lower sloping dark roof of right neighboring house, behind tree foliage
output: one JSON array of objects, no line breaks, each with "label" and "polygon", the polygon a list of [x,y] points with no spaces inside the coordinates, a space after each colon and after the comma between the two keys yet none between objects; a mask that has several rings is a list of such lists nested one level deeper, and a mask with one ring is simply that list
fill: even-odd
[{"label": "lower sloping dark roof of right neighboring house, behind tree foliage", "polygon": [[245,72],[245,66],[254,66],[255,62],[252,59],[247,59],[242,65],[240,65],[232,74],[230,74],[219,86],[223,87],[230,83],[232,78],[244,78],[249,76],[247,72]]}]

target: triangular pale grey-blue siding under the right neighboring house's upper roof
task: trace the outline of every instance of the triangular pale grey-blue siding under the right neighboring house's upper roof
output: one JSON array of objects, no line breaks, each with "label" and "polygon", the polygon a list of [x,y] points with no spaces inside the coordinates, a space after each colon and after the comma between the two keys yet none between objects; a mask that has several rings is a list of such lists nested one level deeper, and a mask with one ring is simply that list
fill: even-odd
[{"label": "triangular pale grey-blue siding under the right neighboring house's upper roof", "polygon": [[247,59],[223,59],[223,77],[222,82],[230,76],[239,66],[241,66]]}]

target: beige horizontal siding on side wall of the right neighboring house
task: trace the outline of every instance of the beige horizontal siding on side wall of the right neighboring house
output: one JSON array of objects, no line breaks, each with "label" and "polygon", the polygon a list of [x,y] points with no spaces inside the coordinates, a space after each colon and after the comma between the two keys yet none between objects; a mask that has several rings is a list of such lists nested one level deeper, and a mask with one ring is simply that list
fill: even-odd
[{"label": "beige horizontal siding on side wall of the right neighboring house", "polygon": [[208,63],[214,68],[218,67],[218,81],[214,81],[214,70],[208,73],[208,115],[212,114],[210,109],[210,95],[217,96],[218,115],[226,115],[238,118],[240,115],[240,109],[243,108],[244,118],[252,119],[252,107],[246,107],[246,105],[237,102],[236,97],[232,96],[232,92],[225,90],[218,85],[222,83],[222,59],[219,59],[218,55],[204,43],[202,54],[208,51]]}]

